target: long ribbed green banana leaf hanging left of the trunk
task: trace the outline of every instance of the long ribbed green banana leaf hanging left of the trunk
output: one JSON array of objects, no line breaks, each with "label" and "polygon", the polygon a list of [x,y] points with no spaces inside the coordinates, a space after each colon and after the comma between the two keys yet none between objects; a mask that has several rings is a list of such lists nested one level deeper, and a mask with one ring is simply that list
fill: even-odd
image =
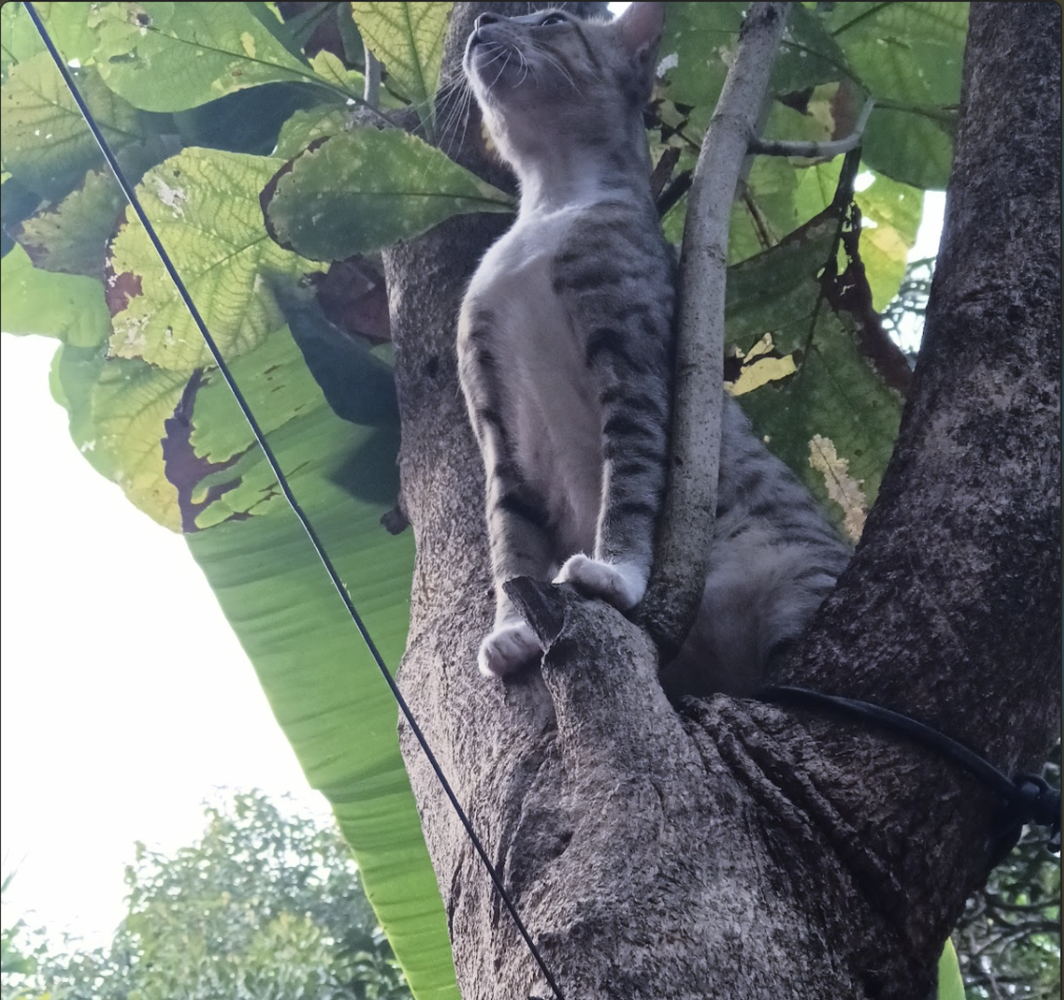
[{"label": "long ribbed green banana leaf hanging left of the trunk", "polygon": [[[397,488],[397,441],[367,450],[378,433],[318,407],[270,441],[394,668],[405,642],[413,539],[381,526],[390,504],[355,499],[345,487],[353,465],[360,476]],[[261,517],[188,536],[189,547],[307,778],[332,803],[411,988],[420,1000],[456,1000],[447,923],[399,754],[395,702],[292,512],[283,504],[261,509]]]}]

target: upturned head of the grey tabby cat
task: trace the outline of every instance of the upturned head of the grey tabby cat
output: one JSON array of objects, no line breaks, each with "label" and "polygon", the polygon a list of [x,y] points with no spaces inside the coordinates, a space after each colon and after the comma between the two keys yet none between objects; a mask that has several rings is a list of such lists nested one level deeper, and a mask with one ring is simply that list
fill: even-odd
[{"label": "upturned head of the grey tabby cat", "polygon": [[502,155],[516,165],[552,144],[642,130],[664,16],[664,3],[633,3],[614,20],[482,14],[463,66]]}]

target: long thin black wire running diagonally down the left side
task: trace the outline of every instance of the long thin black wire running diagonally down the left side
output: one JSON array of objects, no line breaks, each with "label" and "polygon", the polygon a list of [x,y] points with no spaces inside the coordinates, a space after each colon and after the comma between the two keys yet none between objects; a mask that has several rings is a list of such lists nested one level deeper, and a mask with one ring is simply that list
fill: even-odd
[{"label": "long thin black wire running diagonally down the left side", "polygon": [[543,972],[544,978],[547,980],[547,984],[550,986],[551,991],[558,998],[558,1000],[565,1000],[562,990],[559,988],[554,977],[551,974],[550,969],[547,967],[547,963],[544,961],[543,955],[539,954],[539,949],[536,948],[535,941],[532,940],[532,935],[529,934],[528,929],[525,927],[523,921],[517,913],[517,907],[514,905],[514,901],[510,898],[510,894],[506,891],[502,884],[502,879],[499,873],[495,870],[495,865],[492,864],[492,859],[487,856],[487,851],[481,843],[480,838],[477,836],[476,831],[472,827],[472,823],[469,821],[469,817],[466,816],[465,810],[462,808],[461,803],[458,800],[458,796],[454,793],[454,789],[451,788],[450,782],[444,775],[443,768],[439,766],[439,761],[436,759],[435,754],[432,752],[432,748],[429,747],[429,741],[425,738],[425,734],[421,732],[421,727],[417,724],[414,719],[414,714],[411,711],[410,706],[406,704],[406,700],[402,696],[402,692],[399,690],[399,686],[396,684],[395,678],[392,676],[392,672],[385,666],[380,652],[377,649],[377,643],[373,642],[372,637],[369,635],[369,630],[366,628],[362,621],[362,617],[359,614],[358,609],[354,606],[354,602],[351,600],[351,595],[347,592],[347,588],[344,586],[343,579],[340,579],[339,573],[336,572],[336,568],[333,565],[332,560],[329,558],[329,554],[326,552],[325,546],[321,544],[321,540],[318,538],[317,531],[315,531],[314,526],[311,524],[310,519],[303,512],[303,508],[300,507],[299,502],[296,499],[295,494],[292,492],[292,487],[288,486],[288,480],[285,478],[284,473],[281,470],[281,464],[277,460],[277,456],[273,454],[273,449],[269,446],[266,441],[266,435],[263,432],[262,427],[255,420],[254,414],[251,412],[251,407],[248,406],[247,399],[244,397],[244,393],[240,391],[239,386],[237,386],[236,380],[233,378],[232,373],[229,371],[229,365],[226,363],[226,359],[222,357],[221,351],[218,349],[218,345],[215,343],[214,338],[211,335],[206,328],[206,324],[203,322],[203,317],[200,315],[199,310],[196,308],[196,304],[193,301],[192,295],[185,288],[184,281],[181,280],[181,276],[178,274],[178,269],[173,266],[173,262],[170,260],[170,256],[166,252],[159,235],[155,233],[154,227],[151,225],[151,220],[148,218],[147,212],[145,212],[144,207],[140,204],[140,200],[136,196],[136,192],[130,184],[121,166],[119,165],[114,152],[111,149],[106,138],[104,138],[103,133],[100,131],[99,126],[96,124],[96,119],[93,117],[93,113],[88,110],[88,105],[85,103],[78,91],[77,84],[70,75],[66,63],[63,62],[63,58],[60,55],[59,50],[55,48],[51,36],[48,34],[48,30],[45,28],[44,22],[40,20],[40,16],[37,14],[33,3],[27,0],[26,12],[30,15],[30,19],[33,21],[34,28],[37,29],[37,34],[40,35],[40,40],[44,42],[45,48],[48,49],[48,53],[51,55],[52,61],[55,63],[55,68],[59,69],[60,75],[63,77],[64,83],[66,83],[67,88],[70,91],[70,96],[74,99],[74,103],[78,105],[78,110],[81,111],[82,117],[85,119],[85,124],[88,126],[89,131],[93,133],[93,138],[96,140],[97,145],[100,147],[100,151],[103,153],[104,159],[107,161],[107,165],[111,167],[112,173],[115,175],[115,180],[118,181],[118,185],[122,190],[122,194],[126,195],[126,199],[129,201],[133,211],[136,213],[137,218],[140,220],[140,225],[144,226],[145,231],[148,233],[148,239],[151,241],[152,246],[155,248],[155,252],[159,255],[160,260],[163,262],[163,266],[166,268],[167,274],[170,276],[170,280],[173,282],[174,288],[178,290],[178,294],[181,296],[182,301],[185,304],[185,308],[188,310],[189,315],[193,317],[193,322],[199,327],[200,333],[203,335],[203,340],[206,343],[207,349],[211,351],[211,356],[214,358],[214,363],[217,365],[218,371],[221,373],[221,377],[226,380],[226,384],[229,386],[230,391],[233,393],[233,397],[236,399],[237,406],[239,406],[245,419],[248,422],[248,426],[251,428],[252,435],[254,435],[255,441],[259,442],[259,446],[262,448],[263,456],[265,457],[267,463],[277,477],[278,486],[281,488],[281,492],[284,494],[284,498],[288,502],[288,506],[292,507],[293,513],[298,519],[299,523],[302,525],[303,530],[306,532],[306,537],[311,540],[311,544],[314,546],[314,551],[317,553],[318,558],[321,560],[321,564],[325,567],[326,572],[329,574],[329,579],[332,580],[332,585],[336,588],[336,592],[339,594],[340,601],[344,602],[344,606],[347,608],[348,614],[351,617],[351,621],[354,622],[355,628],[359,629],[359,635],[362,636],[363,641],[366,643],[366,649],[369,650],[370,655],[377,663],[381,675],[384,677],[385,683],[392,690],[392,694],[396,700],[396,704],[399,706],[399,710],[403,714],[406,723],[410,725],[411,732],[417,739],[425,752],[425,756],[429,764],[432,766],[432,770],[436,774],[436,778],[439,781],[440,788],[444,789],[447,798],[450,800],[451,805],[454,808],[454,813],[458,815],[459,820],[461,820],[462,825],[465,827],[466,834],[469,837],[469,842],[473,846],[477,854],[480,855],[480,859],[484,863],[484,867],[487,869],[487,873],[495,885],[496,890],[505,904],[506,909],[510,911],[511,917],[514,918],[514,923],[517,925],[517,930],[520,932],[521,937],[525,939],[525,944],[528,945],[529,951],[532,953],[532,957],[535,958],[536,965],[539,966],[539,970]]}]

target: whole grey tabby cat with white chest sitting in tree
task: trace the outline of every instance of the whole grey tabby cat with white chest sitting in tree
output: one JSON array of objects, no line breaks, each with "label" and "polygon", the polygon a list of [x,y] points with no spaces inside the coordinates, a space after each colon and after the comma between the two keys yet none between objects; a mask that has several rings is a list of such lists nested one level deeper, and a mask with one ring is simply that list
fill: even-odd
[{"label": "whole grey tabby cat with white chest sitting in tree", "polygon": [[[520,182],[459,321],[459,371],[484,458],[496,589],[480,669],[542,655],[502,591],[569,581],[643,597],[666,480],[674,256],[650,191],[643,109],[664,4],[613,21],[483,14],[464,66]],[[794,476],[726,400],[715,540],[698,621],[667,685],[752,692],[849,557]]]}]

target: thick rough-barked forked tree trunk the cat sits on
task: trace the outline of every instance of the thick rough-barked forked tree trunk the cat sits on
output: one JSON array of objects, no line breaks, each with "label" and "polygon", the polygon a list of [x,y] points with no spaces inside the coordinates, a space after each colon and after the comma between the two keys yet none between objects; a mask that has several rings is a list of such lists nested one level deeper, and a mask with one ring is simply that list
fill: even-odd
[{"label": "thick rough-barked forked tree trunk the cat sits on", "polygon": [[[455,6],[445,73],[477,7]],[[1059,38],[1055,4],[972,7],[899,441],[853,562],[772,678],[904,711],[1005,772],[1035,768],[1059,726]],[[459,157],[497,178],[478,125]],[[506,225],[454,218],[385,255],[417,542],[400,683],[548,966],[569,1000],[926,996],[997,829],[963,771],[827,711],[678,710],[645,635],[564,588],[534,623],[542,671],[477,672],[494,601],[454,319]],[[463,996],[547,997],[402,738]]]}]

